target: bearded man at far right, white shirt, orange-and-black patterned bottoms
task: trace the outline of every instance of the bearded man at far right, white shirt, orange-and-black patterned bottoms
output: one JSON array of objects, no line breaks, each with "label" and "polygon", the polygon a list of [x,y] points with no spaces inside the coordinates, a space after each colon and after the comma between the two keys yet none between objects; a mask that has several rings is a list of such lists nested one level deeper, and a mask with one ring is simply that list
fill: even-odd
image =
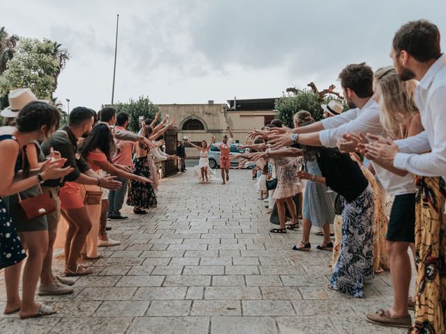
[{"label": "bearded man at far right, white shirt, orange-and-black patterned bottoms", "polygon": [[410,333],[446,332],[446,56],[440,31],[419,20],[401,26],[390,56],[403,81],[416,79],[415,103],[424,132],[417,136],[365,145],[371,159],[417,177],[415,254],[418,275],[415,325]]}]

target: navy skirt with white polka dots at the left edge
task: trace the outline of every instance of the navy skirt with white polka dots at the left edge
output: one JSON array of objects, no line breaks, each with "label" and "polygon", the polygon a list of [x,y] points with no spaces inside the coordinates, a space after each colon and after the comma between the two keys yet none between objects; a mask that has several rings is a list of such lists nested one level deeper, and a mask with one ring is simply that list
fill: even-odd
[{"label": "navy skirt with white polka dots at the left edge", "polygon": [[26,257],[3,199],[0,198],[0,269],[12,266]]}]

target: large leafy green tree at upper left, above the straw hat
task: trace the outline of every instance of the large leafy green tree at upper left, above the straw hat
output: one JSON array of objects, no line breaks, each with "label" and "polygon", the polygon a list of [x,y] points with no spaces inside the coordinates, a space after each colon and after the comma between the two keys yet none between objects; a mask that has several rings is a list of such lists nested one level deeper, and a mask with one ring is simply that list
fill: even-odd
[{"label": "large leafy green tree at upper left, above the straw hat", "polygon": [[0,77],[0,95],[6,96],[17,88],[31,88],[38,98],[53,100],[57,79],[69,58],[68,51],[56,42],[21,38]]}]

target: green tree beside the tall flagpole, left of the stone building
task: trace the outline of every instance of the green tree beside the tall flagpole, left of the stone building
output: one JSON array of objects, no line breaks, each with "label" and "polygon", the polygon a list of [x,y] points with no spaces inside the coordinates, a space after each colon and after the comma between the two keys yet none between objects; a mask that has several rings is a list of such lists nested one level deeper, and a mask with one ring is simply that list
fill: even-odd
[{"label": "green tree beside the tall flagpole, left of the stone building", "polygon": [[153,104],[148,97],[140,96],[138,100],[130,99],[128,103],[118,102],[113,105],[118,113],[127,113],[130,125],[129,130],[137,132],[139,130],[139,116],[146,118],[154,118],[155,113],[160,109],[156,104]]}]

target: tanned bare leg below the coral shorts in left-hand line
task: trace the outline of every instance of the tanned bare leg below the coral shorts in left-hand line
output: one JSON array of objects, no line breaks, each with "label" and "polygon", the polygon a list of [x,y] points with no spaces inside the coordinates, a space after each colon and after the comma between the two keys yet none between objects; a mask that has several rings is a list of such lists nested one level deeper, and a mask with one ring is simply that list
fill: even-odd
[{"label": "tanned bare leg below the coral shorts in left-hand line", "polygon": [[70,253],[68,254],[67,269],[70,271],[77,270],[77,258],[79,257],[82,247],[84,247],[87,234],[91,230],[91,221],[86,207],[79,209],[67,209],[66,214],[70,218],[70,223],[75,225],[75,233],[70,244]]}]

